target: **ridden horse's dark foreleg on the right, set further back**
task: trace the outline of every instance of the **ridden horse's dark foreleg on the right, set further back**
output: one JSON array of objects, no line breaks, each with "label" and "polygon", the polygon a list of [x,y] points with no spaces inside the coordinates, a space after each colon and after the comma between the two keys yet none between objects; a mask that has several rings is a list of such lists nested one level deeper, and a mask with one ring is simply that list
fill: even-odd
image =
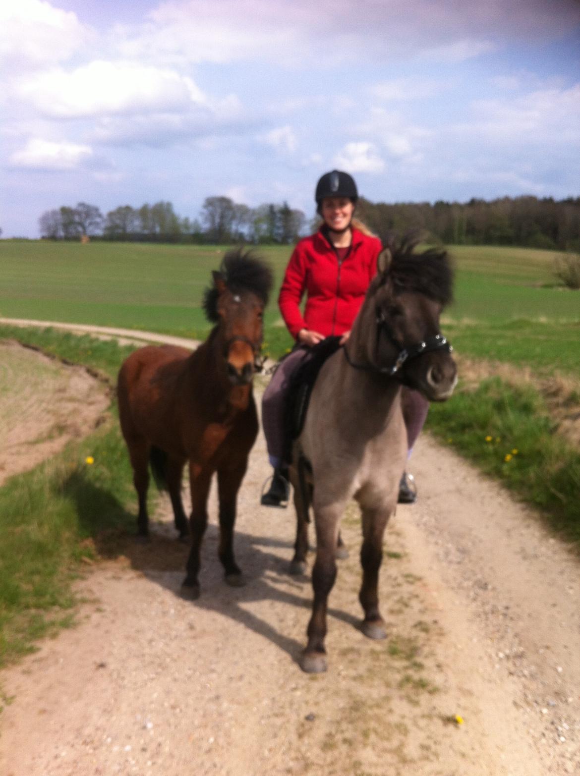
[{"label": "ridden horse's dark foreleg on the right, set further back", "polygon": [[361,630],[370,639],[385,639],[384,619],[379,611],[379,569],[383,560],[383,535],[391,510],[363,509],[363,546],[360,563],[363,566],[363,584],[359,601],[364,609]]}]

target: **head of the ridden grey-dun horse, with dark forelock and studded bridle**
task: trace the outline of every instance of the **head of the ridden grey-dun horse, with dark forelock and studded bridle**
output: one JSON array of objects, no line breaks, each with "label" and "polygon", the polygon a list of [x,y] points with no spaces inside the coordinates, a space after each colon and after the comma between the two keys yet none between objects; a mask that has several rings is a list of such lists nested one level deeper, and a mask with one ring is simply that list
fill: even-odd
[{"label": "head of the ridden grey-dun horse, with dark forelock and studded bridle", "polygon": [[415,253],[419,237],[391,240],[379,258],[363,314],[369,327],[366,358],[382,373],[444,401],[457,383],[452,348],[439,316],[453,296],[453,270],[446,251]]}]

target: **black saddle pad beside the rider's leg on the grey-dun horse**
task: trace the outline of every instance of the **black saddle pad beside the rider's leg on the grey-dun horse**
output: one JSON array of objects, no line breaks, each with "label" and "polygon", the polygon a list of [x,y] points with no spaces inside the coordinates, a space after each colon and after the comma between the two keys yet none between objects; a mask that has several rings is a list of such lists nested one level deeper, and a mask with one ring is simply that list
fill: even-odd
[{"label": "black saddle pad beside the rider's leg on the grey-dun horse", "polygon": [[291,460],[292,442],[304,428],[304,420],[314,383],[326,359],[335,353],[340,345],[340,337],[327,337],[318,345],[314,345],[309,353],[310,358],[300,364],[290,378],[290,386],[286,397],[284,414],[284,440],[286,443],[284,459]]}]

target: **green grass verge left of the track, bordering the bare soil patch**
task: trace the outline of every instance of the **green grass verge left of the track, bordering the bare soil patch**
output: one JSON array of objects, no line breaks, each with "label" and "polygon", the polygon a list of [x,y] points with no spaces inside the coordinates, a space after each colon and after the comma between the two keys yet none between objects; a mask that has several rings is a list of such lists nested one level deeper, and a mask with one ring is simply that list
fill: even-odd
[{"label": "green grass verge left of the track, bordering the bare soil patch", "polygon": [[[0,329],[113,379],[133,348],[53,330]],[[92,459],[92,463],[87,462]],[[134,530],[130,464],[110,408],[102,426],[0,488],[0,666],[73,620],[71,583],[115,532]]]}]

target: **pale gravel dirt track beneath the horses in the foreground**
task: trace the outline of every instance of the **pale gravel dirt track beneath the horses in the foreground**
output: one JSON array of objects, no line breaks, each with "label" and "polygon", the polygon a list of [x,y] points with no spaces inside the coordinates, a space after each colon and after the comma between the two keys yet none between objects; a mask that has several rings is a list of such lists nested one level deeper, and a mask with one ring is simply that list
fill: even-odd
[{"label": "pale gravel dirt track beneath the horses in the foreground", "polygon": [[419,501],[387,528],[389,638],[356,629],[353,506],[313,677],[293,511],[258,505],[268,469],[260,435],[238,508],[245,587],[222,580],[214,491],[198,601],[179,598],[187,548],[165,497],[148,545],[88,571],[78,627],[2,674],[3,776],[580,774],[578,560],[535,514],[424,436]]}]

